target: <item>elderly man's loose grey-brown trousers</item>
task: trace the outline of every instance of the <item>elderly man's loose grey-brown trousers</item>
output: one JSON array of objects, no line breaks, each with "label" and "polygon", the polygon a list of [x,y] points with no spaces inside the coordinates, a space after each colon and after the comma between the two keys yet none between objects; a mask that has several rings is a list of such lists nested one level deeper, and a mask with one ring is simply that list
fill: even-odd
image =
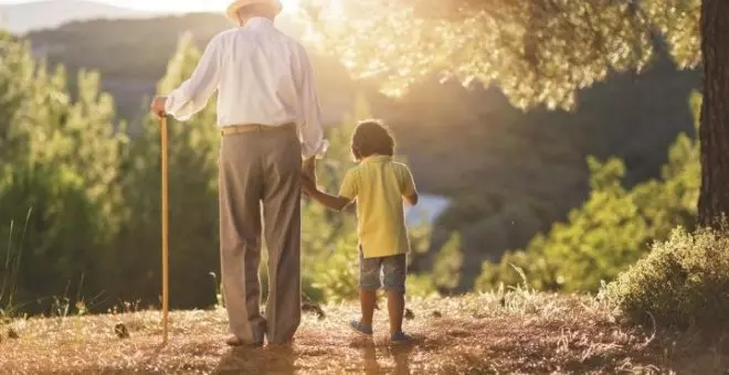
[{"label": "elderly man's loose grey-brown trousers", "polygon": [[[224,136],[220,151],[220,253],[231,333],[285,343],[300,321],[302,150],[292,128]],[[263,208],[263,210],[262,210]],[[268,300],[261,314],[262,216]]]}]

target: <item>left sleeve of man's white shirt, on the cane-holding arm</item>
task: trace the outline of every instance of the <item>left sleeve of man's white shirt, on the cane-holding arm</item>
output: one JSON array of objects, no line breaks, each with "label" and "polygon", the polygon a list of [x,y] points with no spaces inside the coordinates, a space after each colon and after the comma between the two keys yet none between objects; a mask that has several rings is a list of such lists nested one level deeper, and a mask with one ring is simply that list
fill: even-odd
[{"label": "left sleeve of man's white shirt, on the cane-holding arm", "polygon": [[221,65],[220,39],[214,38],[190,78],[169,94],[165,111],[180,121],[187,121],[202,110],[220,84]]}]

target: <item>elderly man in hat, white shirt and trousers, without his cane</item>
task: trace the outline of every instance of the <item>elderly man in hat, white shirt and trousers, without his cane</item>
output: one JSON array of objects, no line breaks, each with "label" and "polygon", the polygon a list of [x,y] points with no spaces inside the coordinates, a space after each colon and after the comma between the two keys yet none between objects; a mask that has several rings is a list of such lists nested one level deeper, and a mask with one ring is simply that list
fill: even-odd
[{"label": "elderly man in hat, white shirt and trousers, without his cane", "polygon": [[[300,179],[326,151],[304,47],[274,28],[277,0],[239,0],[239,28],[210,42],[190,79],[151,110],[187,120],[215,89],[220,151],[220,251],[230,345],[287,344],[300,320]],[[190,171],[194,173],[194,171]],[[262,210],[263,208],[263,210]],[[268,301],[261,314],[262,216]]]}]

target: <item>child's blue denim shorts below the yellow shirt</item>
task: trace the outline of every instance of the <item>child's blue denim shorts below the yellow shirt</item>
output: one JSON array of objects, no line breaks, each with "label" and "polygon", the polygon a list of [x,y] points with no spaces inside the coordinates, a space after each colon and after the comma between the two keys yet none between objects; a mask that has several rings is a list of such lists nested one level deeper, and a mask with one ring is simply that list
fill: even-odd
[{"label": "child's blue denim shorts below the yellow shirt", "polygon": [[405,292],[408,256],[405,254],[389,257],[364,258],[359,250],[359,288]]}]

